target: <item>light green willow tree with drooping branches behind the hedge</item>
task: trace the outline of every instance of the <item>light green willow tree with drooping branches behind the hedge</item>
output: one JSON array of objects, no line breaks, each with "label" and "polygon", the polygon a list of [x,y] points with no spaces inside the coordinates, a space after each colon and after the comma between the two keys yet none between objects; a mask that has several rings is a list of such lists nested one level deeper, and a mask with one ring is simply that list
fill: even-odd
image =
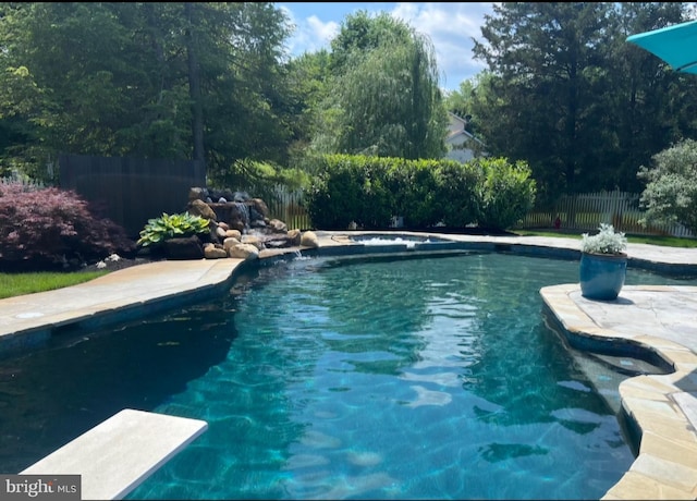
[{"label": "light green willow tree with drooping branches behind the hedge", "polygon": [[346,17],[331,57],[316,151],[442,157],[448,119],[426,36],[387,13],[359,12]]}]

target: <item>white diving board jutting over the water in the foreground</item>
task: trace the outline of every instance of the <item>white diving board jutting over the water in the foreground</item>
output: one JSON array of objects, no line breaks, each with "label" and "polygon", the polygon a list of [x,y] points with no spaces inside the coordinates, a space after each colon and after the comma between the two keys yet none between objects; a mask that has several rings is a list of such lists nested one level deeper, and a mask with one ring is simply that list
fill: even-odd
[{"label": "white diving board jutting over the water in the foreground", "polygon": [[122,499],[208,428],[125,408],[20,475],[82,475],[82,499]]}]

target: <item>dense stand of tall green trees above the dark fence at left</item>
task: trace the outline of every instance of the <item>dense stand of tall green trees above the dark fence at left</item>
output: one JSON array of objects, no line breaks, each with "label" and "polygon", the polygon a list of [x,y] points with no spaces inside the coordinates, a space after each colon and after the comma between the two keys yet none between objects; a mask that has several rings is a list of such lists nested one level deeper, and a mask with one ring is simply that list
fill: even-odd
[{"label": "dense stand of tall green trees above the dark fence at left", "polygon": [[58,152],[282,161],[289,34],[269,2],[1,3],[4,159],[36,175]]}]

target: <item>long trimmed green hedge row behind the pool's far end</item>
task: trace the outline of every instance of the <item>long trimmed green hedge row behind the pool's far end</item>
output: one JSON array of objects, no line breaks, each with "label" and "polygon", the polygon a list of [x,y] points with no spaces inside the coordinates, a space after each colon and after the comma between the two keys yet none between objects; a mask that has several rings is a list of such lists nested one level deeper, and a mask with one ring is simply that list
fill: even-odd
[{"label": "long trimmed green hedge row behind the pool's far end", "polygon": [[345,230],[352,221],[366,230],[384,229],[395,216],[409,229],[505,230],[535,203],[527,163],[503,158],[460,163],[330,155],[317,168],[306,204],[313,223],[322,230]]}]

